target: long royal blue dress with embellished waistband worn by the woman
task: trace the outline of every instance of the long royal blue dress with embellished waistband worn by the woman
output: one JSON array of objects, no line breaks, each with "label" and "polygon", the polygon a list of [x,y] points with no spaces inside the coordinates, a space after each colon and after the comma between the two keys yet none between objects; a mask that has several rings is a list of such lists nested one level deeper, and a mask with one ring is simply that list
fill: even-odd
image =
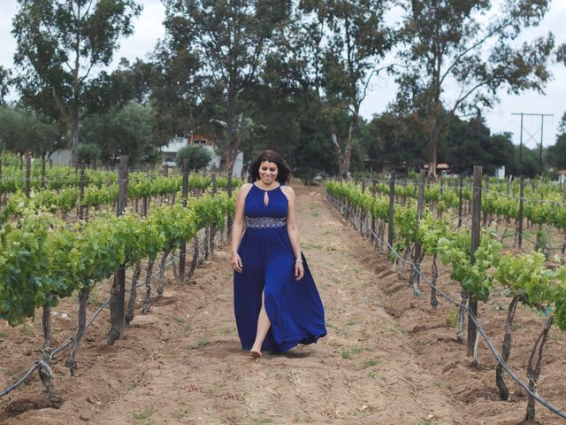
[{"label": "long royal blue dress with embellished waistband worn by the woman", "polygon": [[233,275],[234,313],[244,350],[251,349],[256,339],[262,291],[272,323],[262,350],[287,352],[297,344],[316,343],[326,335],[325,311],[302,253],[304,276],[300,281],[294,277],[287,202],[280,186],[264,190],[252,184],[246,197],[248,227],[238,248],[243,271]]}]

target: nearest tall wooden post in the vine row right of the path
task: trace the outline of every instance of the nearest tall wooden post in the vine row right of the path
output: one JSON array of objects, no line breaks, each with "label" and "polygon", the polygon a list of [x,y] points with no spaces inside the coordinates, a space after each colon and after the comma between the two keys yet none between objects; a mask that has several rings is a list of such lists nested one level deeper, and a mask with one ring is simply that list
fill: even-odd
[{"label": "nearest tall wooden post in the vine row right of the path", "polygon": [[[479,246],[480,230],[481,230],[481,174],[482,167],[474,166],[474,186],[471,197],[471,247],[470,247],[470,262],[474,264],[476,262],[476,250]],[[469,314],[473,314],[475,318],[478,317],[478,300],[470,295],[468,301],[468,306],[470,307]],[[474,321],[468,321],[468,356],[474,356],[476,353],[478,338],[478,328]]]}]

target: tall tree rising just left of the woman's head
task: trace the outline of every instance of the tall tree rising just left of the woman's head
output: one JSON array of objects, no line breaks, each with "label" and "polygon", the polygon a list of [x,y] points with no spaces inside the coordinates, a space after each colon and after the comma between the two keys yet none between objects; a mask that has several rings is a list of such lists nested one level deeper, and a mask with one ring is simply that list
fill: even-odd
[{"label": "tall tree rising just left of the woman's head", "polygon": [[[210,119],[226,128],[224,156],[231,176],[246,115],[242,92],[256,81],[273,37],[287,24],[290,0],[164,0],[165,27],[178,48],[200,61],[196,71],[215,101]],[[209,100],[210,100],[209,97]]]}]

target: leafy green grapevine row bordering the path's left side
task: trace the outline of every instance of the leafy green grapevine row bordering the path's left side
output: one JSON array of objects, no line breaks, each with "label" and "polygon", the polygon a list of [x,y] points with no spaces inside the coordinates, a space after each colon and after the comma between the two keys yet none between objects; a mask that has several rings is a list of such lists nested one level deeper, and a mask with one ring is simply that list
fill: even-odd
[{"label": "leafy green grapevine row bordering the path's left side", "polygon": [[[201,229],[205,230],[209,241],[213,240],[216,229],[223,228],[226,217],[233,215],[233,197],[228,197],[226,192],[216,193],[216,188],[202,197],[187,197],[188,173],[182,177],[183,192],[178,202],[152,205],[148,216],[127,210],[121,213],[126,205],[124,183],[127,181],[127,174],[121,174],[118,216],[110,211],[100,211],[88,222],[69,226],[48,211],[22,208],[19,216],[6,222],[0,230],[0,318],[17,326],[34,317],[35,309],[42,307],[44,345],[39,374],[51,400],[56,399],[49,369],[51,307],[78,292],[79,324],[66,361],[73,373],[75,355],[85,328],[88,297],[97,282],[114,275],[109,337],[109,344],[113,344],[124,322],[127,324],[134,315],[138,285],[132,285],[125,308],[123,282],[126,267],[134,267],[133,282],[137,282],[142,259],[147,259],[146,276],[151,276],[157,255],[161,253],[162,291],[165,260],[172,251],[180,250],[180,282],[184,283],[186,242],[196,240]],[[145,284],[143,312],[148,313],[151,292],[148,277]]]}]

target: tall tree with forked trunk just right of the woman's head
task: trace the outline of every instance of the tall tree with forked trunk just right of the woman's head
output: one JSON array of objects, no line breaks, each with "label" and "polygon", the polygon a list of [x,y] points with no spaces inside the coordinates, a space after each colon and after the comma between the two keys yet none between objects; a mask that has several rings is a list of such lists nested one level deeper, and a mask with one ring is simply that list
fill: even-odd
[{"label": "tall tree with forked trunk just right of the woman's head", "polygon": [[[347,176],[355,142],[360,106],[372,78],[388,66],[386,54],[394,47],[395,32],[384,19],[393,7],[389,0],[310,0],[300,3],[296,51],[302,55],[329,133]],[[347,112],[348,123],[339,120]],[[338,128],[345,127],[340,134]]]}]

